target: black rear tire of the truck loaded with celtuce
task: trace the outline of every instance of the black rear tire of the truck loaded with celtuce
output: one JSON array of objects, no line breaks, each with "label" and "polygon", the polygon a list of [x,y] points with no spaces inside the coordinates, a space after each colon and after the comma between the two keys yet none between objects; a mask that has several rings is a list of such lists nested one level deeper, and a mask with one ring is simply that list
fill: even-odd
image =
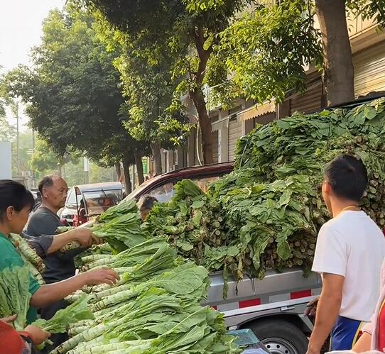
[{"label": "black rear tire of the truck loaded with celtuce", "polygon": [[308,350],[308,338],[290,322],[269,319],[249,328],[271,354],[305,354]]}]

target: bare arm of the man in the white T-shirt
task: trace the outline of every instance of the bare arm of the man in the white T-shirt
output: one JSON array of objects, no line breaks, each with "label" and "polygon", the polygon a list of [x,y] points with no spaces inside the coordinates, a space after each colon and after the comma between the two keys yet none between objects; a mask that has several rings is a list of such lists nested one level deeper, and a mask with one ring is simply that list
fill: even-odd
[{"label": "bare arm of the man in the white T-shirt", "polygon": [[310,336],[308,354],[320,354],[322,345],[332,331],[340,313],[345,277],[324,273],[315,326]]}]

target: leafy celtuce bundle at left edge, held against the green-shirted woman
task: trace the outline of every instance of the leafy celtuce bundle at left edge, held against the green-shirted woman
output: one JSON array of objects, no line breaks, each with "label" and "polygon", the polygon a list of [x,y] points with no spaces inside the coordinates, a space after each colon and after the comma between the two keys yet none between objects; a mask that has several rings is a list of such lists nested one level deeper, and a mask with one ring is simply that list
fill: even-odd
[{"label": "leafy celtuce bundle at left edge, held against the green-shirted woman", "polygon": [[0,319],[17,314],[13,326],[23,331],[29,309],[31,294],[29,293],[28,267],[6,268],[0,272]]}]

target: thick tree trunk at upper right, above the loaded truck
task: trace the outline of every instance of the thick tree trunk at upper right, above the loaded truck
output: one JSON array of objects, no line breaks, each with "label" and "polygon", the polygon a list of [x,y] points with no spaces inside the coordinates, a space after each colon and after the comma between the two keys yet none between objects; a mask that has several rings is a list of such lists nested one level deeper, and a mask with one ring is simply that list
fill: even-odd
[{"label": "thick tree trunk at upper right, above the loaded truck", "polygon": [[315,0],[322,35],[327,105],[354,100],[354,67],[345,0]]}]

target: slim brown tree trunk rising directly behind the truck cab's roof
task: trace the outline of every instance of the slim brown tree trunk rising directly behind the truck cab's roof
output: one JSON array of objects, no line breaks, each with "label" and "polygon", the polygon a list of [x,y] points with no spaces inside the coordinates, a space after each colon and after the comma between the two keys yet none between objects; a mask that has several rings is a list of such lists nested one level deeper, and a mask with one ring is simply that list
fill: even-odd
[{"label": "slim brown tree trunk rising directly behind the truck cab's roof", "polygon": [[191,99],[193,99],[195,108],[197,109],[200,133],[202,135],[202,153],[203,163],[205,165],[214,163],[212,155],[212,128],[210,116],[207,113],[205,97],[201,90],[190,92]]}]

